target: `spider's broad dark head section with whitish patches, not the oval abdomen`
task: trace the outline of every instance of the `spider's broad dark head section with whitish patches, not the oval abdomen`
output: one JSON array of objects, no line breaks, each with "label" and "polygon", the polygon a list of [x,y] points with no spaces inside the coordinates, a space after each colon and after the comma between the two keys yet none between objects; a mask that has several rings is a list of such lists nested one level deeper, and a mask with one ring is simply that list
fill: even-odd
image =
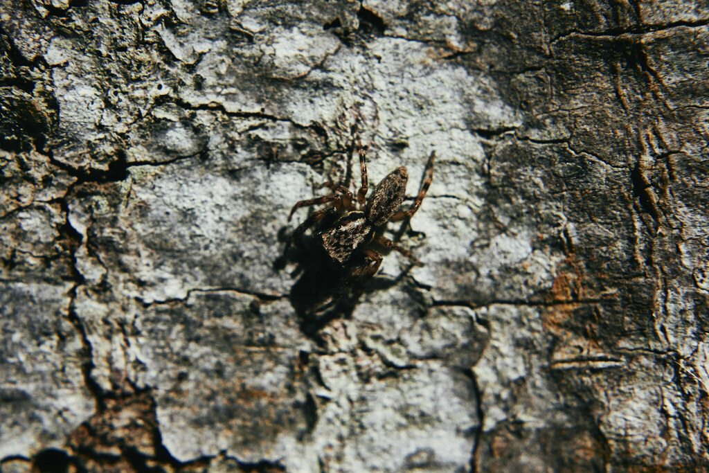
[{"label": "spider's broad dark head section with whitish patches, not the oval abdomen", "polygon": [[359,248],[372,240],[373,235],[374,227],[364,212],[352,211],[338,218],[332,228],[319,233],[318,238],[322,240],[325,252],[344,266]]}]

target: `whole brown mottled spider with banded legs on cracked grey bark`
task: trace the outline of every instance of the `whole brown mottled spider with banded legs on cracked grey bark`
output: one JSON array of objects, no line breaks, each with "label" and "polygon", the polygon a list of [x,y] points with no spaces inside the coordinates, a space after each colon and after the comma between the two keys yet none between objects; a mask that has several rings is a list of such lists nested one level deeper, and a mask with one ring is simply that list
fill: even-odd
[{"label": "whole brown mottled spider with banded legs on cracked grey bark", "polygon": [[[316,240],[316,245],[325,250],[325,254],[336,267],[350,269],[352,272],[356,272],[357,276],[374,276],[379,270],[382,257],[379,252],[370,247],[373,242],[396,250],[415,265],[421,265],[411,255],[411,252],[389,240],[381,232],[384,230],[386,223],[411,218],[421,206],[426,191],[428,191],[433,180],[435,152],[432,152],[428,158],[428,164],[426,165],[428,176],[423,180],[418,196],[411,208],[401,211],[399,208],[406,194],[406,182],[408,180],[406,167],[398,167],[384,179],[381,179],[381,182],[374,187],[374,191],[367,199],[367,191],[369,191],[367,159],[359,135],[357,135],[357,148],[359,149],[359,167],[362,172],[362,186],[357,191],[357,201],[354,201],[354,195],[347,187],[333,182],[324,182],[320,185],[320,189],[327,187],[333,191],[333,194],[299,201],[291,209],[288,221],[291,221],[298,208],[326,204],[328,202],[332,202],[333,205],[313,212],[308,216],[291,235],[291,241],[303,235],[308,228],[328,216],[330,217],[328,222],[332,223],[326,224],[325,228],[319,230],[313,236]],[[364,267],[362,266],[362,257],[367,262]]]}]

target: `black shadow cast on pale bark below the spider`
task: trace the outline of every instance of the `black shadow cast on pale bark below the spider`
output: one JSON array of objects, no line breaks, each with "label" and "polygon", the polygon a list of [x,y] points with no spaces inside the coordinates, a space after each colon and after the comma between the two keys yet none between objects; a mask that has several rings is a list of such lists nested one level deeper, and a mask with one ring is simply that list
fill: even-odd
[{"label": "black shadow cast on pale bark below the spider", "polygon": [[[328,223],[320,223],[313,235],[318,228],[327,228]],[[372,261],[362,255],[356,255],[343,268],[333,263],[312,235],[302,235],[291,242],[289,229],[284,227],[279,236],[281,241],[286,241],[286,248],[274,267],[283,270],[289,263],[296,265],[291,275],[298,279],[291,288],[289,300],[298,315],[301,331],[316,342],[322,341],[319,332],[330,321],[350,318],[364,294],[389,289],[408,274],[406,269],[396,279],[369,276],[367,269]]]}]

